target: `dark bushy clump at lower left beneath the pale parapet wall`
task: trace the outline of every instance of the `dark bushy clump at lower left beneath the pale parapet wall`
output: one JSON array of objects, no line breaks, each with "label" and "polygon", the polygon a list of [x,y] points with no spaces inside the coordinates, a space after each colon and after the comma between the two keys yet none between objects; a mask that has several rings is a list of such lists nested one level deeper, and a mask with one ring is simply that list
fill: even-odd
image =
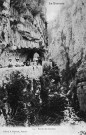
[{"label": "dark bushy clump at lower left beneath the pale parapet wall", "polygon": [[0,100],[6,98],[5,102],[8,106],[5,114],[8,121],[7,124],[24,125],[27,119],[33,122],[32,119],[34,120],[37,102],[35,95],[31,92],[31,80],[25,78],[18,71],[13,72],[10,75],[10,81],[2,86],[0,92],[2,92]]}]

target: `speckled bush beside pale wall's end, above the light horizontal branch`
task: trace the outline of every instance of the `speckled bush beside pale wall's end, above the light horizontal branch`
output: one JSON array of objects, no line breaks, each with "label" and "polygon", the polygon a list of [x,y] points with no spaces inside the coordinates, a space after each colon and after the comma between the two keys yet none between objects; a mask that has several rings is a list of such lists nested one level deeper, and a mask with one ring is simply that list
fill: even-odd
[{"label": "speckled bush beside pale wall's end, above the light horizontal branch", "polygon": [[52,89],[54,89],[53,92],[57,92],[58,90],[56,87],[60,82],[58,66],[54,65],[52,68],[50,68],[50,66],[46,66],[40,80],[43,91],[45,90],[46,92],[49,92],[52,91]]}]

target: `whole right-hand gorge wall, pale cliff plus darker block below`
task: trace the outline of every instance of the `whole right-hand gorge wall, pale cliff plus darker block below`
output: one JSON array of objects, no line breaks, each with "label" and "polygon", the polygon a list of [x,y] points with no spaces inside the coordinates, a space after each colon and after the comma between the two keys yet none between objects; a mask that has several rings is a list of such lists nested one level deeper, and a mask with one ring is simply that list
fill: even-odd
[{"label": "whole right-hand gorge wall, pale cliff plus darker block below", "polygon": [[86,111],[86,1],[77,0],[64,6],[49,28],[49,37],[52,37],[50,57],[59,69],[66,69],[68,60],[69,68],[76,65],[80,109]]}]

